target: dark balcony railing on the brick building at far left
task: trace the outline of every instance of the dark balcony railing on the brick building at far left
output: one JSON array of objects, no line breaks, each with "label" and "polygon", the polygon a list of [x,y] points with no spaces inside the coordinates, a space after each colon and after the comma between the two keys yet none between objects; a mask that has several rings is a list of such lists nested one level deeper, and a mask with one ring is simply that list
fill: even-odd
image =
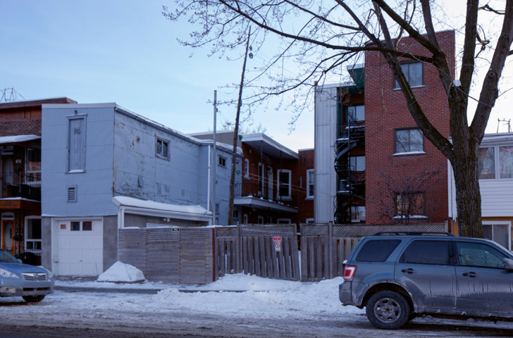
[{"label": "dark balcony railing on the brick building at far left", "polygon": [[1,198],[21,197],[41,201],[41,174],[0,175]]}]

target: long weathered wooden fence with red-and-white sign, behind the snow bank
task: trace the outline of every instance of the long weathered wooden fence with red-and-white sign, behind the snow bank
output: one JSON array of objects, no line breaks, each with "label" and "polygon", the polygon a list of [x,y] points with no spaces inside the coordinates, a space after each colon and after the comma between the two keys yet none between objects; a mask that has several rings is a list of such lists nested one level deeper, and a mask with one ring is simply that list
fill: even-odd
[{"label": "long weathered wooden fence with red-and-white sign, behind the snow bank", "polygon": [[127,228],[119,230],[118,260],[162,282],[206,284],[233,273],[315,282],[342,276],[359,239],[380,231],[444,232],[447,225],[304,224],[301,251],[290,224]]}]

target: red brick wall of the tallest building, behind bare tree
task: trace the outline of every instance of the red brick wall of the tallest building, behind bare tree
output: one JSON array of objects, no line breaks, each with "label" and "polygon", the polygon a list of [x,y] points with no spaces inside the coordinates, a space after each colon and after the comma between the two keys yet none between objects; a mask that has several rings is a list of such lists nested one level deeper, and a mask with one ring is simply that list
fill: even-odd
[{"label": "red brick wall of the tallest building, behind bare tree", "polygon": [[[438,42],[455,72],[455,33],[439,32]],[[404,38],[400,48],[412,54],[429,56],[428,51]],[[413,89],[416,99],[431,123],[441,134],[450,134],[450,111],[447,96],[438,77],[438,70],[424,64],[424,87]],[[419,178],[423,171],[440,170],[424,185],[426,219],[422,222],[443,222],[447,219],[447,160],[424,137],[426,154],[393,156],[396,128],[416,127],[402,92],[393,89],[393,72],[381,54],[365,54],[365,154],[366,154],[366,223],[390,223],[393,198],[387,196],[385,180],[404,184]],[[425,175],[424,175],[425,176]],[[401,189],[401,188],[399,188]],[[392,213],[392,214],[390,214]],[[383,217],[384,216],[384,217]]]}]

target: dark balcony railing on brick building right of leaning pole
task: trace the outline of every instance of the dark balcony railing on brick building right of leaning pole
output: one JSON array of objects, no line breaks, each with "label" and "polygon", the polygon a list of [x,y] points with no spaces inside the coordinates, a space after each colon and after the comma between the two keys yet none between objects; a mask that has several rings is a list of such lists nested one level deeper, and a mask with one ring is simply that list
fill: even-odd
[{"label": "dark balcony railing on brick building right of leaning pole", "polygon": [[[281,185],[280,191],[288,194],[288,186]],[[263,184],[258,180],[251,180],[249,182],[242,182],[235,184],[235,197],[252,196],[257,199],[263,199],[277,204],[285,204],[288,206],[297,206],[297,196],[295,196],[293,189],[291,189],[290,196],[278,196],[276,189],[276,182],[273,184],[273,189],[269,189],[267,180]]]}]

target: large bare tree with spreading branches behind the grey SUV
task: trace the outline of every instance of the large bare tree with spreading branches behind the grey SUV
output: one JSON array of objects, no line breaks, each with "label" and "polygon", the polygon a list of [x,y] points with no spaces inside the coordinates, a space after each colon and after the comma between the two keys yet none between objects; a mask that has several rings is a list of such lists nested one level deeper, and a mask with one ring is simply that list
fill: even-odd
[{"label": "large bare tree with spreading branches behind the grey SUV", "polygon": [[[361,58],[361,52],[380,52],[393,70],[416,124],[452,164],[460,234],[482,237],[478,147],[499,96],[499,80],[507,56],[513,54],[510,51],[513,0],[497,1],[500,8],[494,8],[491,3],[480,6],[478,0],[466,2],[459,78],[451,73],[447,56],[438,43],[434,5],[433,0],[397,0],[393,5],[385,0],[177,0],[173,10],[164,8],[163,13],[171,20],[187,18],[194,31],[190,39],[182,43],[192,47],[211,46],[212,54],[243,48],[247,25],[254,27],[253,46],[261,48],[264,42],[273,44],[276,54],[247,82],[247,86],[254,89],[245,97],[247,104],[289,92],[295,95],[302,86],[311,93],[315,84],[342,76],[341,66]],[[489,18],[480,25],[480,11],[495,15],[494,20],[501,23],[500,29],[489,35],[493,39],[487,38],[480,29],[490,27]],[[441,15],[440,11],[435,14]],[[421,44],[426,54],[401,51],[397,42],[403,35]],[[483,58],[487,51],[490,53],[488,72],[481,83],[474,83],[480,89],[474,118],[469,123],[467,111],[475,81],[476,58]],[[426,118],[402,72],[400,58],[421,61],[438,70],[450,107],[452,140],[444,137]],[[294,68],[294,75],[283,75],[285,64]],[[307,96],[304,97],[304,102],[308,102]],[[292,119],[300,113],[300,110],[295,112]]]}]

